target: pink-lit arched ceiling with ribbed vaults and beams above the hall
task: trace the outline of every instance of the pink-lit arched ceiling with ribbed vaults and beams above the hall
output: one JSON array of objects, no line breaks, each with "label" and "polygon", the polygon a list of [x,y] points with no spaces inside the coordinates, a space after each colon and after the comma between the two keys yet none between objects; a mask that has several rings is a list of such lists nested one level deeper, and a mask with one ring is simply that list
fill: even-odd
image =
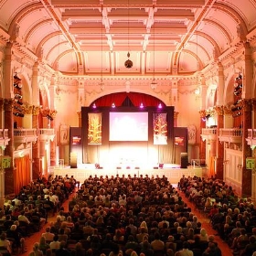
[{"label": "pink-lit arched ceiling with ribbed vaults and beams above the hall", "polygon": [[5,0],[0,38],[67,75],[191,75],[246,37],[255,13],[255,0]]}]

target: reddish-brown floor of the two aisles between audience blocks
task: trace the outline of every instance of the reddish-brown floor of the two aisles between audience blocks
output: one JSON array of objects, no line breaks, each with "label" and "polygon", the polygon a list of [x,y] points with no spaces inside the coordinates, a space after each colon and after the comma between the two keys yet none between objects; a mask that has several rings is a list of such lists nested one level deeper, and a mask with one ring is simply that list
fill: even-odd
[{"label": "reddish-brown floor of the two aisles between audience blocks", "polygon": [[[69,200],[75,195],[75,192],[70,195]],[[206,216],[202,215],[195,205],[191,203],[187,197],[183,193],[180,193],[180,196],[183,198],[183,200],[187,203],[187,206],[192,209],[192,212],[197,215],[198,220],[202,223],[202,227],[205,228],[208,232],[208,235],[214,235],[216,234],[216,230],[211,228],[211,225],[209,223],[209,219],[206,218]],[[68,211],[69,210],[69,200],[65,201],[63,204],[64,210]],[[27,247],[27,252],[23,253],[22,255],[28,255],[29,252],[33,251],[33,244],[37,241],[40,240],[41,234],[45,232],[45,229],[50,225],[50,222],[56,220],[56,215],[55,217],[48,217],[48,223],[44,226],[43,229],[41,229],[39,232],[35,233],[33,236],[26,238],[26,247]],[[219,244],[219,249],[222,252],[222,255],[232,255],[232,251],[229,249],[229,246],[227,243],[225,243],[223,240],[219,238],[219,236],[215,236],[215,240]]]}]

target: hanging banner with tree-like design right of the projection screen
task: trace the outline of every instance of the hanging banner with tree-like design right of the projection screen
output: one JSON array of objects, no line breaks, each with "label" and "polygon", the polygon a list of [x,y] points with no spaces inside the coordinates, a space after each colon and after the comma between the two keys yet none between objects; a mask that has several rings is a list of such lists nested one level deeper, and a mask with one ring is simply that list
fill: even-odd
[{"label": "hanging banner with tree-like design right of the projection screen", "polygon": [[154,144],[167,144],[167,113],[153,113]]}]

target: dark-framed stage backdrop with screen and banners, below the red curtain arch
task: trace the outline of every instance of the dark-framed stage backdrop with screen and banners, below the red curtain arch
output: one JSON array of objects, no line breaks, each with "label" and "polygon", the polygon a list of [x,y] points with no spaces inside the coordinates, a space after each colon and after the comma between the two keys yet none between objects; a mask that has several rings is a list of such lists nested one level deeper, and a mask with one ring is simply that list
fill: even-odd
[{"label": "dark-framed stage backdrop with screen and banners, below the red curtain arch", "polygon": [[[116,129],[118,128],[116,126],[122,125],[117,123],[119,117],[114,115],[119,112],[127,112],[126,119],[130,119],[130,114],[132,113],[146,113],[146,116],[142,115],[141,120],[129,121],[128,126],[126,125],[121,128],[126,138],[124,141],[121,141],[123,139],[120,138],[115,139],[115,134],[112,134],[121,133],[113,132],[111,128],[111,125]],[[161,118],[165,118],[163,131],[166,137],[165,140],[157,143],[154,139],[156,133],[155,118],[158,118],[160,113],[163,113]],[[112,123],[110,116],[111,118],[114,116]],[[91,121],[96,123],[95,130],[92,129],[93,123]],[[174,163],[174,107],[172,106],[164,106],[162,109],[157,107],[146,107],[144,109],[138,107],[116,107],[114,109],[110,107],[99,107],[96,109],[82,107],[81,123],[83,163],[97,163],[101,166],[113,168],[144,168],[155,166],[159,163]],[[159,131],[157,130],[157,133]],[[139,135],[136,136],[135,133],[141,133],[142,136],[146,133],[147,138],[138,137]],[[91,140],[92,134],[95,136],[93,140]],[[165,141],[166,143],[163,143]]]}]

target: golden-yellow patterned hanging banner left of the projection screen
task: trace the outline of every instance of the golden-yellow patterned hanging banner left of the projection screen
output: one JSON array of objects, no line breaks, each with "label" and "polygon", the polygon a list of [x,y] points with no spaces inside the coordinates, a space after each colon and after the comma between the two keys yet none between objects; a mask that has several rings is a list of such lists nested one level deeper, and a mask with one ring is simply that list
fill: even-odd
[{"label": "golden-yellow patterned hanging banner left of the projection screen", "polygon": [[88,144],[101,144],[101,112],[88,113]]}]

